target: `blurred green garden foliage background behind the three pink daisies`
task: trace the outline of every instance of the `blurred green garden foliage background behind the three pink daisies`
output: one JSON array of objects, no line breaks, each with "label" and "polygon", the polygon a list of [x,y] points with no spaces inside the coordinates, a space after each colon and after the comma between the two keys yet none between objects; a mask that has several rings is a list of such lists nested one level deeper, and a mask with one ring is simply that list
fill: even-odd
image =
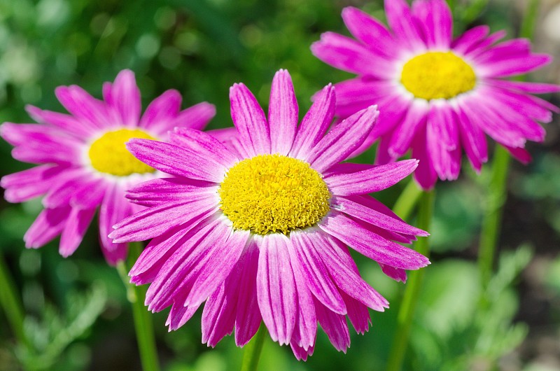
[{"label": "blurred green garden foliage background behind the three pink daisies", "polygon": [[[456,33],[477,24],[517,34],[525,1],[452,1]],[[542,1],[543,17],[560,1]],[[0,0],[0,121],[31,122],[25,104],[64,111],[54,89],[77,84],[101,97],[102,83],[132,69],[144,107],[164,90],[183,95],[183,107],[217,106],[211,128],[232,125],[228,89],[244,82],[266,109],[274,72],[288,69],[300,116],[314,92],[351,77],[311,55],[323,31],[347,34],[340,11],[357,6],[384,20],[381,1],[325,0]],[[557,11],[560,13],[560,10]],[[560,20],[555,25],[558,25]],[[545,22],[546,23],[546,22]],[[538,22],[540,25],[541,23]],[[534,49],[560,54],[546,29]],[[530,79],[560,82],[558,62]],[[547,97],[558,105],[559,97]],[[545,144],[529,147],[534,161],[514,164],[500,240],[500,264],[481,292],[475,264],[488,174],[465,166],[459,181],[439,183],[421,303],[405,370],[560,369],[560,139],[558,116]],[[374,150],[360,156],[372,162]],[[28,165],[10,158],[1,141],[1,175]],[[404,182],[402,182],[404,183]],[[391,206],[403,185],[376,195]],[[104,262],[92,225],[71,258],[57,243],[26,250],[22,235],[41,210],[39,200],[0,202],[0,248],[27,313],[31,348],[15,344],[0,313],[0,370],[139,370],[132,313],[115,269]],[[411,221],[414,223],[414,220]],[[260,370],[382,370],[395,329],[402,283],[355,255],[365,279],[391,302],[372,311],[372,329],[351,333],[351,348],[337,353],[319,330],[314,356],[297,362],[289,348],[265,343]],[[163,368],[235,370],[243,351],[232,337],[216,349],[201,344],[200,313],[167,332],[167,311],[153,316]]]}]

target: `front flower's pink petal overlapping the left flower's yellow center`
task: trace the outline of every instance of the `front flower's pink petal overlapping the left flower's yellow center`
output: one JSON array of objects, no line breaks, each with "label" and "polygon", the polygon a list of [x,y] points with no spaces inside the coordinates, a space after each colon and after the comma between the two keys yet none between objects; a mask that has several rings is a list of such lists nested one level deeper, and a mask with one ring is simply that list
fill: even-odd
[{"label": "front flower's pink petal overlapping the left flower's yellow center", "polygon": [[167,174],[216,183],[220,183],[225,175],[226,169],[218,162],[173,144],[131,139],[127,148],[141,162]]}]

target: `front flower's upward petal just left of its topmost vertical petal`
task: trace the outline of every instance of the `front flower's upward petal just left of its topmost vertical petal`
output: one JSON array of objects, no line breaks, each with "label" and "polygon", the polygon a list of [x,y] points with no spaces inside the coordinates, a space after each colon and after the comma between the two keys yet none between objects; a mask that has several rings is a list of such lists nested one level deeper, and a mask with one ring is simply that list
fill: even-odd
[{"label": "front flower's upward petal just left of its topmost vertical petal", "polygon": [[270,129],[257,99],[243,84],[230,87],[232,119],[239,139],[251,155],[270,153]]}]

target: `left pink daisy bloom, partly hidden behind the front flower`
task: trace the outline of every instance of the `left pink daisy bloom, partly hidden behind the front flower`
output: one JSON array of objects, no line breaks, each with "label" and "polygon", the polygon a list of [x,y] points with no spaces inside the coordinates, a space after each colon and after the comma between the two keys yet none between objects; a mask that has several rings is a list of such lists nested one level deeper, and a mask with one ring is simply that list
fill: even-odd
[{"label": "left pink daisy bloom, partly hidden behind the front flower", "polygon": [[59,252],[73,253],[99,207],[99,238],[108,262],[126,258],[126,244],[107,235],[112,226],[141,209],[125,198],[125,189],[158,176],[155,169],[126,149],[131,138],[167,139],[176,126],[202,129],[214,117],[214,106],[197,104],[180,111],[181,94],[167,90],[140,117],[140,91],[132,71],[121,71],[103,85],[104,101],[76,85],[57,87],[62,106],[71,113],[27,106],[38,124],[4,123],[0,135],[15,146],[13,158],[38,164],[4,176],[9,202],[43,197],[43,211],[27,230],[25,246],[38,248],[60,235]]}]

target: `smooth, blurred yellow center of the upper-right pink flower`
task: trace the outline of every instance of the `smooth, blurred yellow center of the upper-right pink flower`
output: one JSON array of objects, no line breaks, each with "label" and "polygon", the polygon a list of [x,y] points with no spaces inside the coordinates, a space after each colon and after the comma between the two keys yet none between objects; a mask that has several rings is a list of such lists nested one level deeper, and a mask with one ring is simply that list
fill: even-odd
[{"label": "smooth, blurred yellow center of the upper-right pink flower", "polygon": [[477,76],[453,52],[426,52],[405,63],[400,82],[416,98],[450,99],[472,90]]}]

